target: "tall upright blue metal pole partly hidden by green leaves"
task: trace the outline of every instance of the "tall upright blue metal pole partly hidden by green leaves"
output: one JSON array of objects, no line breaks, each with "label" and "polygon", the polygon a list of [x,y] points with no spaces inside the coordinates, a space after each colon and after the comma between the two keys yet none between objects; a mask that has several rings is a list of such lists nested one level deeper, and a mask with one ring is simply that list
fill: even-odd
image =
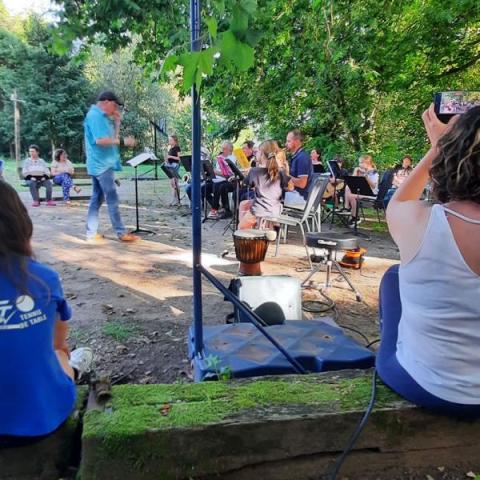
[{"label": "tall upright blue metal pole partly hidden by green leaves", "polygon": [[[190,0],[190,33],[192,52],[200,51],[200,0]],[[202,223],[200,184],[201,117],[200,95],[192,86],[192,250],[193,250],[193,322],[195,355],[203,352],[202,325]]]}]

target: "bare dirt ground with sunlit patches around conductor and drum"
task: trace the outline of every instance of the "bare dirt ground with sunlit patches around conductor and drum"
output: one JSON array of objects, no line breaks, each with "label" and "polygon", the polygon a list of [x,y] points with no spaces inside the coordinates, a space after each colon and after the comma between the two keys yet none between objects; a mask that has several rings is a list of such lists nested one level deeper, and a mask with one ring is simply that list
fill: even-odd
[{"label": "bare dirt ground with sunlit patches around conductor and drum", "polygon": [[[60,273],[74,310],[71,346],[92,347],[97,371],[109,375],[115,383],[188,380],[186,339],[193,304],[190,210],[187,205],[168,206],[166,180],[143,181],[139,185],[140,226],[156,235],[143,235],[141,241],[131,245],[116,240],[105,207],[100,214],[100,232],[105,234],[105,242],[91,245],[85,242],[88,201],[74,201],[69,207],[42,204],[32,208],[29,194],[21,195],[33,218],[37,259]],[[119,194],[122,217],[129,228],[134,228],[133,182],[123,181]],[[222,235],[226,223],[209,220],[204,224],[202,258],[203,264],[228,285],[238,270],[238,262],[231,231]],[[361,243],[368,249],[364,268],[361,272],[350,270],[349,274],[363,302],[356,302],[343,282],[336,282],[337,288],[330,289],[329,295],[338,307],[338,323],[358,329],[371,341],[378,337],[380,278],[398,262],[398,251],[388,233],[372,232],[371,240]],[[229,253],[223,258],[226,250]],[[274,251],[274,245],[270,246],[263,264],[265,274],[288,274],[300,279],[308,275],[299,235],[289,235],[278,257],[273,256]],[[315,277],[318,282],[323,279],[324,273]],[[305,298],[319,296],[315,290],[306,290]],[[232,311],[206,280],[203,306],[205,324],[223,323],[225,315]],[[365,343],[358,334],[347,333]]]}]

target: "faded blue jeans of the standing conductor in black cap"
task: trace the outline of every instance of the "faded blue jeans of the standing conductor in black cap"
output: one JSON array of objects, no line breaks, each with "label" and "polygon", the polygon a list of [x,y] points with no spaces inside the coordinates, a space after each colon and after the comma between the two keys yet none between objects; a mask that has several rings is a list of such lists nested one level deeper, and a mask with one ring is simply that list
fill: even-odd
[{"label": "faded blue jeans of the standing conductor in black cap", "polygon": [[104,200],[107,201],[110,222],[117,236],[125,233],[125,226],[120,217],[119,199],[115,185],[115,173],[112,169],[92,177],[92,198],[87,213],[87,238],[93,237],[98,230],[98,211]]}]

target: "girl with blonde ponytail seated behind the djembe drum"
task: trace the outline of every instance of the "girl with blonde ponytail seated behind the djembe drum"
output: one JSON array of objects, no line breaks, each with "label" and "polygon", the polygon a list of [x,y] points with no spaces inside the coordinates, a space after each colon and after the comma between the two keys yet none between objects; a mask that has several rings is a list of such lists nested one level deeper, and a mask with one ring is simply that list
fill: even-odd
[{"label": "girl with blonde ponytail seated behind the djembe drum", "polygon": [[277,142],[267,140],[258,148],[258,167],[252,168],[245,183],[255,188],[255,198],[240,203],[238,228],[255,228],[258,218],[279,215],[282,211],[282,197],[289,187],[288,176],[279,168]]}]

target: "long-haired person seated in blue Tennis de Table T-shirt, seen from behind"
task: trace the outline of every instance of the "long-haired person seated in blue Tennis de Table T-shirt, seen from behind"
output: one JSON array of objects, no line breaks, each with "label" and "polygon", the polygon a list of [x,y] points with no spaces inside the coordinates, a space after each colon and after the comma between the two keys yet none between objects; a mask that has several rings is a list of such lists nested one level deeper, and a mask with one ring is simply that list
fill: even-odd
[{"label": "long-haired person seated in blue Tennis de Table T-shirt, seen from behind", "polygon": [[0,181],[0,449],[34,443],[75,407],[89,348],[67,345],[71,309],[58,274],[33,259],[32,221]]}]

